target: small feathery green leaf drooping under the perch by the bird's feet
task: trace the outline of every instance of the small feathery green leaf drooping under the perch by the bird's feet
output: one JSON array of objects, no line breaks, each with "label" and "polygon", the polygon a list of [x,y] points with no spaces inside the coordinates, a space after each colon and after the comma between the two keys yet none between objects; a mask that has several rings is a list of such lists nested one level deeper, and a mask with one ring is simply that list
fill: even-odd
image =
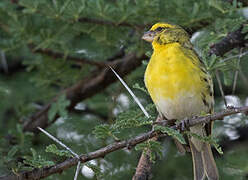
[{"label": "small feathery green leaf drooping under the perch by the bird's feet", "polygon": [[156,126],[154,126],[154,130],[160,131],[162,133],[167,133],[169,136],[173,136],[174,138],[176,138],[180,143],[186,144],[183,135],[175,129],[156,125]]}]

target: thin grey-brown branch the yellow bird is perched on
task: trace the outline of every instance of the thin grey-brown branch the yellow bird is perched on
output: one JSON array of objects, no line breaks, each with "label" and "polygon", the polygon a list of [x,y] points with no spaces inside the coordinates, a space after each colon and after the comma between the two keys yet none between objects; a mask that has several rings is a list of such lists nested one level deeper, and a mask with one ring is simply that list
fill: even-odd
[{"label": "thin grey-brown branch the yellow bird is perched on", "polygon": [[[215,120],[223,120],[225,116],[230,116],[232,114],[237,114],[237,113],[248,114],[248,106],[243,106],[239,108],[229,108],[224,111],[214,113],[212,115],[191,118],[191,119],[184,121],[184,123],[186,127],[191,127],[191,126],[195,126],[201,123],[209,123]],[[171,126],[171,128],[173,129],[177,129],[177,127],[178,126],[175,126],[175,125]],[[114,152],[114,151],[117,151],[117,150],[120,150],[126,147],[134,147],[135,145],[142,143],[144,141],[147,141],[148,139],[151,139],[153,137],[164,137],[164,136],[166,136],[166,134],[152,130],[147,133],[136,136],[134,138],[131,138],[129,140],[115,142],[113,144],[100,148],[94,152],[90,152],[88,154],[82,154],[80,155],[80,159],[70,158],[54,166],[34,169],[32,171],[25,171],[25,172],[19,173],[18,175],[12,174],[12,175],[1,177],[0,179],[1,180],[28,180],[28,179],[45,178],[55,173],[61,173],[62,171],[72,166],[76,166],[78,161],[81,161],[82,163],[84,163],[84,162],[87,162],[93,159],[103,158],[104,156],[106,156],[107,154],[111,152]]]}]

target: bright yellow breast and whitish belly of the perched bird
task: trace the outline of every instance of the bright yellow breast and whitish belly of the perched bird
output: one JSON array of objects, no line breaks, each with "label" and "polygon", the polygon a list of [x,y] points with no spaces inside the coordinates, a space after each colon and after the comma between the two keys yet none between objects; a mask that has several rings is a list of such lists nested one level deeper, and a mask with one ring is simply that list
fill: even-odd
[{"label": "bright yellow breast and whitish belly of the perched bird", "polygon": [[155,46],[145,72],[152,100],[168,118],[183,118],[205,110],[199,61],[182,48],[178,43]]}]

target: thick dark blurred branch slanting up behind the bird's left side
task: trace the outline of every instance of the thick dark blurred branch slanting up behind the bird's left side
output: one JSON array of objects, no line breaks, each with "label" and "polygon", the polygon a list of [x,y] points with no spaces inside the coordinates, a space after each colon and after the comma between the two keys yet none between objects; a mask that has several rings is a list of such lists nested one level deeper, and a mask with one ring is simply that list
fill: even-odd
[{"label": "thick dark blurred branch slanting up behind the bird's left side", "polygon": [[[147,58],[145,55],[137,57],[134,53],[130,53],[122,59],[116,59],[111,62],[110,65],[123,77],[136,69],[145,58]],[[90,77],[84,78],[62,92],[66,94],[67,99],[71,102],[67,109],[72,110],[77,103],[104,90],[116,80],[117,78],[109,68],[104,68],[101,71],[92,73]],[[45,105],[40,111],[33,114],[29,120],[25,121],[24,131],[37,132],[37,127],[46,128],[49,126],[48,111],[51,104],[55,101],[56,98],[51,103]],[[57,117],[55,117],[52,122],[55,122]]]}]

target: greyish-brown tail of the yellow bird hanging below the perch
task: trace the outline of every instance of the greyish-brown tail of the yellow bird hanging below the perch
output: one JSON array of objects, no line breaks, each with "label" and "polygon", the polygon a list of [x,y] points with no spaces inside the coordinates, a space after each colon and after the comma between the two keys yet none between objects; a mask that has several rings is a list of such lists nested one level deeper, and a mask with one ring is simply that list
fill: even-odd
[{"label": "greyish-brown tail of the yellow bird hanging below the perch", "polygon": [[204,143],[201,151],[198,151],[190,140],[189,145],[193,159],[194,180],[204,180],[205,176],[208,180],[218,180],[218,169],[210,145]]}]

